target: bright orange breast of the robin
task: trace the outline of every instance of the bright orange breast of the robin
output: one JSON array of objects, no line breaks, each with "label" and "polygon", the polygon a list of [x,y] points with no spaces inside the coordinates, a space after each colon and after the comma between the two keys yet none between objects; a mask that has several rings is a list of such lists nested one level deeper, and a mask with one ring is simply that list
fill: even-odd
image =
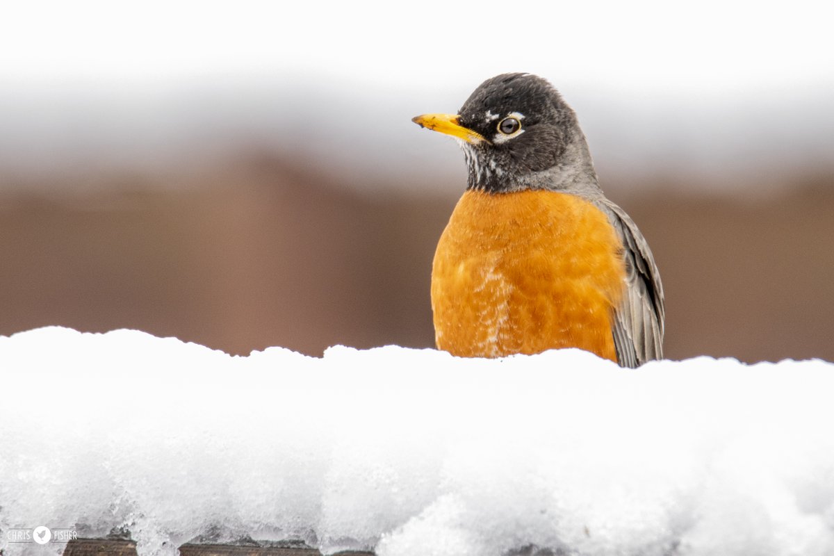
[{"label": "bright orange breast of the robin", "polygon": [[464,193],[432,268],[437,347],[462,357],[574,347],[616,361],[620,248],[605,214],[574,195]]}]

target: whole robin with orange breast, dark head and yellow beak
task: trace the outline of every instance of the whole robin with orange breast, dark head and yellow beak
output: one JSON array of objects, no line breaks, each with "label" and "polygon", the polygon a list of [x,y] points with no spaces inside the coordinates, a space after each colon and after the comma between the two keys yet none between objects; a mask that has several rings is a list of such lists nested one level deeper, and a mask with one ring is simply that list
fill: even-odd
[{"label": "whole robin with orange breast, dark head and yellow beak", "polygon": [[662,358],[663,288],[636,224],[600,189],[574,111],[545,79],[487,79],[455,114],[469,178],[437,245],[437,347],[462,357],[582,348],[624,367]]}]

